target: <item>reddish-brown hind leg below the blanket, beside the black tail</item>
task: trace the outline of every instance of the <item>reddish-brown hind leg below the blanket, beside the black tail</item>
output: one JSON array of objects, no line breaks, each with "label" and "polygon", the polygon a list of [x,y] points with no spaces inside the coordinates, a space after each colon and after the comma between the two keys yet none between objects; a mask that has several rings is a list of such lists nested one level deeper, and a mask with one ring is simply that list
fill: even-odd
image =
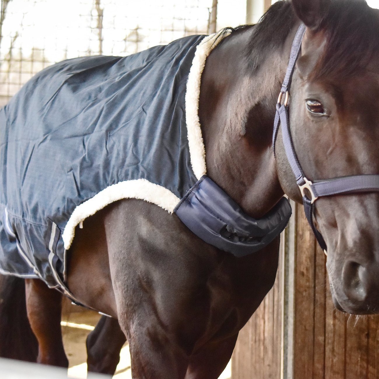
[{"label": "reddish-brown hind leg below the blanket, beside the black tail", "polygon": [[61,331],[62,294],[39,279],[25,280],[28,319],[38,340],[38,363],[68,367]]}]

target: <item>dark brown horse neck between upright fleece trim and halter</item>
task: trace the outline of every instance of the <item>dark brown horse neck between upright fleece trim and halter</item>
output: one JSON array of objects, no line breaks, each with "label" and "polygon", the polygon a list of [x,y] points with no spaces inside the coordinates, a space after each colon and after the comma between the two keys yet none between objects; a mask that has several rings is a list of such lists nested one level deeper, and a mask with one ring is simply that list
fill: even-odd
[{"label": "dark brown horse neck between upright fleece trim and halter", "polygon": [[202,75],[199,117],[207,175],[254,217],[263,216],[283,196],[272,135],[294,32],[284,48],[267,49],[248,74],[246,48],[254,27],[235,32],[210,54]]}]

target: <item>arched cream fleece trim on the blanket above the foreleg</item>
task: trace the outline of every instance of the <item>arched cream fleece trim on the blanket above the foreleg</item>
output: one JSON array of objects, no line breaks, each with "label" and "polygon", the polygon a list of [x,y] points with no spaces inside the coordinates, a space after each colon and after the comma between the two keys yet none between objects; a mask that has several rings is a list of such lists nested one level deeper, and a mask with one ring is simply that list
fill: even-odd
[{"label": "arched cream fleece trim on the blanket above the foreleg", "polygon": [[64,248],[68,250],[74,240],[75,227],[87,217],[94,215],[106,205],[121,199],[140,199],[157,204],[169,213],[179,203],[179,197],[175,196],[168,189],[151,183],[146,179],[125,180],[106,187],[91,199],[78,205],[67,222],[62,234]]}]

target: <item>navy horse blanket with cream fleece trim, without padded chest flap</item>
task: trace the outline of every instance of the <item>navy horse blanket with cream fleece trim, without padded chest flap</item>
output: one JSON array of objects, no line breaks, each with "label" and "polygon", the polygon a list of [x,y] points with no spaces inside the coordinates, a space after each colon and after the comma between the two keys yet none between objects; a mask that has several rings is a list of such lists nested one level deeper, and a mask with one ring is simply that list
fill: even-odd
[{"label": "navy horse blanket with cream fleece trim, without padded chest flap", "polygon": [[174,211],[205,174],[197,110],[216,37],[63,61],[0,110],[0,273],[63,287],[87,217],[124,198]]}]

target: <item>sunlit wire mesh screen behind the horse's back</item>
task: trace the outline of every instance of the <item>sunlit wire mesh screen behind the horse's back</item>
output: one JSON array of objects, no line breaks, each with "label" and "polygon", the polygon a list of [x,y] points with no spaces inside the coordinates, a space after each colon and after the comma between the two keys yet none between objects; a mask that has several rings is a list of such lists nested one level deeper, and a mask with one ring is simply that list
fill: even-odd
[{"label": "sunlit wire mesh screen behind the horse's back", "polygon": [[77,56],[128,55],[215,25],[216,0],[1,0],[0,106]]}]

